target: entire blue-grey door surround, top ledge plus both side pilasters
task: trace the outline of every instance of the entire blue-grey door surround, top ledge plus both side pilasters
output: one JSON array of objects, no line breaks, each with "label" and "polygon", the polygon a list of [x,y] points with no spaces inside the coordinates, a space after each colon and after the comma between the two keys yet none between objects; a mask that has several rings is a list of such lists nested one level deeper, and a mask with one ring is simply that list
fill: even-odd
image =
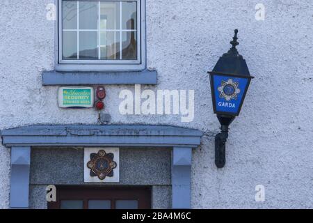
[{"label": "entire blue-grey door surround, top ledge plus both side pilasters", "polygon": [[[29,208],[33,146],[172,148],[172,208],[191,208],[191,153],[199,130],[163,125],[31,125],[1,131],[11,148],[10,208]],[[53,149],[53,148],[51,148]]]}]

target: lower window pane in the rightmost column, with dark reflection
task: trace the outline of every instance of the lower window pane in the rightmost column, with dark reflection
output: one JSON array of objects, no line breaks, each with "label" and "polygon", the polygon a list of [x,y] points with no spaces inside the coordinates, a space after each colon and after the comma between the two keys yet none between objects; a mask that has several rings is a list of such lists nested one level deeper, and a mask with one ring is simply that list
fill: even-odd
[{"label": "lower window pane in the rightmost column, with dark reflection", "polygon": [[137,32],[122,32],[122,59],[137,59]]}]

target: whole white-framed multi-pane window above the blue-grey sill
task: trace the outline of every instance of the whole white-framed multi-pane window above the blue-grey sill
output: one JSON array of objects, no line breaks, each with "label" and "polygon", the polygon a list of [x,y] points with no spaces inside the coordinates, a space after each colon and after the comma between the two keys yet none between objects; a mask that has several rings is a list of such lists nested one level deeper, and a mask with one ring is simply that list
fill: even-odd
[{"label": "whole white-framed multi-pane window above the blue-grey sill", "polygon": [[144,69],[141,1],[59,0],[57,70]]}]

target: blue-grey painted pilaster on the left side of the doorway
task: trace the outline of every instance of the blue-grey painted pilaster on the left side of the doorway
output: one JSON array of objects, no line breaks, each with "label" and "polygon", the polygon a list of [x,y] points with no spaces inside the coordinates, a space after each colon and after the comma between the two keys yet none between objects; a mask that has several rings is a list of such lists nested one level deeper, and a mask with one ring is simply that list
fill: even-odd
[{"label": "blue-grey painted pilaster on the left side of the doorway", "polygon": [[31,147],[11,148],[10,208],[29,208]]}]

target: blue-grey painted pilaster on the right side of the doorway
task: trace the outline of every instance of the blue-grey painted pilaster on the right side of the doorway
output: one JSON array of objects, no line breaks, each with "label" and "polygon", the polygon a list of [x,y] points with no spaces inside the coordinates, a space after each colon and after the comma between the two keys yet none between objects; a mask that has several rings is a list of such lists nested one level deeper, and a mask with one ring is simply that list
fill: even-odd
[{"label": "blue-grey painted pilaster on the right side of the doorway", "polygon": [[191,148],[172,150],[172,208],[191,208]]}]

